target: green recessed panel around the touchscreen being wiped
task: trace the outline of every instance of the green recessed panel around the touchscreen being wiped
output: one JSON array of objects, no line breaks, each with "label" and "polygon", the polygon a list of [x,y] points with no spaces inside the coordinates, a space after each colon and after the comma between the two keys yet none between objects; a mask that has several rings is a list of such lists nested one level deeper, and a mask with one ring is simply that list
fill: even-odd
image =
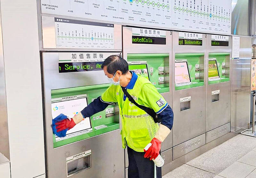
[{"label": "green recessed panel around the touchscreen being wiped", "polygon": [[[110,84],[82,86],[52,90],[52,118],[60,113],[72,118],[94,99],[98,98]],[[67,131],[66,137],[53,134],[53,147],[59,147],[119,129],[119,115],[115,115],[116,104],[105,110],[84,118],[82,122]]]}]

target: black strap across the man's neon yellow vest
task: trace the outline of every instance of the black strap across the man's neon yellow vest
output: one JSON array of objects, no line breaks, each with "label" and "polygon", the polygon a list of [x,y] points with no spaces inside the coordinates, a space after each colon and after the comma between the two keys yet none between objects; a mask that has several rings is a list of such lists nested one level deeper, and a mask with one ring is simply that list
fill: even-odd
[{"label": "black strap across the man's neon yellow vest", "polygon": [[131,103],[133,103],[135,106],[137,106],[138,108],[140,108],[140,109],[144,110],[146,113],[148,113],[148,115],[150,115],[156,123],[161,122],[161,119],[157,117],[157,114],[153,109],[138,104],[124,87],[122,87],[122,90],[123,90],[124,94],[126,95],[126,97],[128,98],[128,100],[131,101]]}]

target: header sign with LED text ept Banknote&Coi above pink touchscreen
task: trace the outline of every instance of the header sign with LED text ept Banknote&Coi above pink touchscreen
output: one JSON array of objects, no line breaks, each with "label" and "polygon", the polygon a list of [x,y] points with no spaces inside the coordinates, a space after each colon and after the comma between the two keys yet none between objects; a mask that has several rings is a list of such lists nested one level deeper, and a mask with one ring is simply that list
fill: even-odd
[{"label": "header sign with LED text ept Banknote&Coi above pink touchscreen", "polygon": [[179,45],[203,45],[203,34],[179,32]]}]

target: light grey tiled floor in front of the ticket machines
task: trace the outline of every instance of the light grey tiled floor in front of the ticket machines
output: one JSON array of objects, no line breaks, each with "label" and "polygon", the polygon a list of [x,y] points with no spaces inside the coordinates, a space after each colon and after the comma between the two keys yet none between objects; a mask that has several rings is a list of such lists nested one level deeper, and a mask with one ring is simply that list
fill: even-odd
[{"label": "light grey tiled floor in front of the ticket machines", "polygon": [[237,135],[163,178],[256,178],[256,138]]}]

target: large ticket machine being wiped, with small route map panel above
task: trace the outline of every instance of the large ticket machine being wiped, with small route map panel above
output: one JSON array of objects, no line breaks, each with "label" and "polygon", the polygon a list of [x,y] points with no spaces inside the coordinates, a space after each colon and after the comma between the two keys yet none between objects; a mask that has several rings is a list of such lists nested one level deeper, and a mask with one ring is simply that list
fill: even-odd
[{"label": "large ticket machine being wiped, with small route map panel above", "polygon": [[47,177],[124,177],[117,104],[84,118],[65,137],[52,132],[52,119],[72,118],[110,85],[101,65],[122,53],[121,25],[43,17],[42,26]]}]

